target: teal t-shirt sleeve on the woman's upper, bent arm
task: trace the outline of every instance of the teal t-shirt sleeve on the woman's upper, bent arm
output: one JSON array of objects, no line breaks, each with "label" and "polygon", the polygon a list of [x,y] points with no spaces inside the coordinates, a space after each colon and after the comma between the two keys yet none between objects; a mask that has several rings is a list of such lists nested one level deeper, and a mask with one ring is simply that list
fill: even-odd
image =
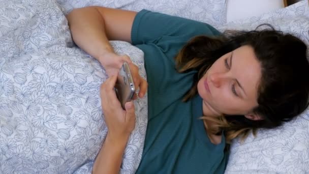
[{"label": "teal t-shirt sleeve on the woman's upper, bent arm", "polygon": [[142,10],[137,13],[131,32],[133,45],[156,42],[163,36],[220,35],[207,23],[167,14]]}]

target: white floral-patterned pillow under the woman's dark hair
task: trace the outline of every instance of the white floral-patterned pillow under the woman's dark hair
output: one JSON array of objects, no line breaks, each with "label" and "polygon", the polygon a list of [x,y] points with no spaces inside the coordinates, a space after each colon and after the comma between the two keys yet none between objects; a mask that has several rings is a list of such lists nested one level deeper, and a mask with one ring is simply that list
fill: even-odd
[{"label": "white floral-patterned pillow under the woman's dark hair", "polygon": [[[309,45],[309,7],[306,1],[285,9],[230,22],[220,31],[254,30],[269,23],[276,30],[292,33]],[[236,139],[225,173],[308,173],[309,171],[309,109],[299,117],[272,130],[260,130],[244,143]]]}]

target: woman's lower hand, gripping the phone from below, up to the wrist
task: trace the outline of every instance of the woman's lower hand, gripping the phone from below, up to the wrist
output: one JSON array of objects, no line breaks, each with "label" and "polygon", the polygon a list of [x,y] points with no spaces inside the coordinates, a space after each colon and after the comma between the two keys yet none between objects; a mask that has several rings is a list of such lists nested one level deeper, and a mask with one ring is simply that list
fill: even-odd
[{"label": "woman's lower hand, gripping the phone from below, up to the wrist", "polygon": [[127,102],[126,110],[122,109],[114,91],[116,80],[117,76],[111,76],[101,85],[102,109],[109,137],[115,141],[127,141],[135,128],[134,103]]}]

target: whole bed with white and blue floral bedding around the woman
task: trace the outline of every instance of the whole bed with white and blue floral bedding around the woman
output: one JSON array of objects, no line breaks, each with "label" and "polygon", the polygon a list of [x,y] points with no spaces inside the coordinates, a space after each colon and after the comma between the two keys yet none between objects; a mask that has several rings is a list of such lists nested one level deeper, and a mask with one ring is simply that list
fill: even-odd
[{"label": "whole bed with white and blue floral bedding around the woman", "polygon": [[[65,14],[91,5],[148,9],[207,22],[220,31],[251,30],[260,23],[292,33],[309,45],[309,8],[285,9],[226,22],[223,0],[0,0],[0,173],[91,173],[107,133],[99,86],[107,78],[98,61],[77,48]],[[189,10],[188,10],[189,9]],[[146,77],[143,52],[111,41]],[[120,173],[134,173],[147,128],[147,96],[135,101],[137,122]],[[235,139],[226,173],[309,172],[309,110],[274,130]]]}]

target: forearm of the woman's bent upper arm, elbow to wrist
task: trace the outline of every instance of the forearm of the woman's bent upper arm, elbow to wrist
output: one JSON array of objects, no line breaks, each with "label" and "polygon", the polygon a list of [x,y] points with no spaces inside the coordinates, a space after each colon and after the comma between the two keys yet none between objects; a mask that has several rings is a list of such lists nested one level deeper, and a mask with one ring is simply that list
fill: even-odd
[{"label": "forearm of the woman's bent upper arm, elbow to wrist", "polygon": [[97,60],[105,52],[113,52],[106,35],[104,19],[95,7],[74,9],[67,15],[67,19],[73,41],[81,49]]}]

